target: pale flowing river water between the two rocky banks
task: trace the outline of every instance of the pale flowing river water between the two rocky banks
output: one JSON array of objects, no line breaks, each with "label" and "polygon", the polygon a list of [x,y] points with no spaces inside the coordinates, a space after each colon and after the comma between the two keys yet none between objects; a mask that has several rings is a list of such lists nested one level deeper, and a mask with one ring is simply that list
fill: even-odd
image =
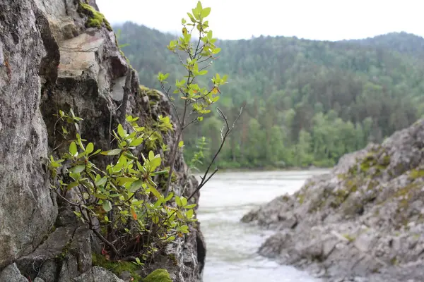
[{"label": "pale flowing river water between the two rocky banks", "polygon": [[217,173],[201,190],[198,217],[206,239],[204,282],[317,282],[304,271],[257,255],[273,233],[241,223],[250,209],[300,189],[324,171]]}]

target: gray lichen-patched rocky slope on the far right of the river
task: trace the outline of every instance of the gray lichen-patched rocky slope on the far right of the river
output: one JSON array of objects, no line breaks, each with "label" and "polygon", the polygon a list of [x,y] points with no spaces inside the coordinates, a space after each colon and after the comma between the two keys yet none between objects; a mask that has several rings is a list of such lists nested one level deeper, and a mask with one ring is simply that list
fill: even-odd
[{"label": "gray lichen-patched rocky slope on the far right of the river", "polygon": [[324,281],[424,281],[424,120],[246,214],[259,249]]}]

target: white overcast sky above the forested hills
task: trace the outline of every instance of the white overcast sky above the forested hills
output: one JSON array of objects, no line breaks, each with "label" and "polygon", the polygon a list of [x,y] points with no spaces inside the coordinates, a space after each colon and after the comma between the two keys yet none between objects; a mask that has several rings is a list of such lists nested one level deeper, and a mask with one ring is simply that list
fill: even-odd
[{"label": "white overcast sky above the forested hills", "polygon": [[[97,0],[110,23],[132,21],[161,31],[181,30],[197,0]],[[284,35],[359,39],[406,31],[424,37],[423,0],[203,0],[220,39]]]}]

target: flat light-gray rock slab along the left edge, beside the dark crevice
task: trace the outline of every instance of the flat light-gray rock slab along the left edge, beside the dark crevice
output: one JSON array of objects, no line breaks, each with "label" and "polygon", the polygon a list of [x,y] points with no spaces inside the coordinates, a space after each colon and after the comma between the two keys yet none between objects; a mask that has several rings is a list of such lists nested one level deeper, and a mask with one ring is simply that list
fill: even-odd
[{"label": "flat light-gray rock slab along the left edge, beside the dark crevice", "polygon": [[33,251],[57,215],[42,159],[40,76],[47,56],[33,1],[0,1],[0,269]]}]

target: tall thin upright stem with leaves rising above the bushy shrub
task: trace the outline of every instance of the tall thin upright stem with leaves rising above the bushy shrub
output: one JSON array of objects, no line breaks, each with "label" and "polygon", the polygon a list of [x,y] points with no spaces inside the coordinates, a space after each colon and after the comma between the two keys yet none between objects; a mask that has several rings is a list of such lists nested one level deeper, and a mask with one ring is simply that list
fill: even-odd
[{"label": "tall thin upright stem with leaves rising above the bushy shrub", "polygon": [[[171,93],[172,87],[165,87],[167,84],[167,77],[169,73],[163,74],[158,73],[158,80],[162,90],[165,92],[167,97],[170,99],[171,104],[175,110],[175,115],[177,116],[178,126],[176,128],[176,140],[175,144],[171,149],[171,160],[170,160],[170,175],[174,169],[175,159],[177,152],[182,148],[184,142],[182,141],[182,133],[185,128],[192,123],[196,123],[203,120],[204,115],[211,112],[208,109],[211,104],[218,102],[221,85],[227,83],[227,75],[221,77],[218,73],[211,78],[211,87],[200,87],[196,83],[196,78],[206,75],[208,71],[206,68],[211,66],[213,60],[216,59],[216,55],[220,52],[220,48],[215,46],[216,38],[213,38],[212,30],[209,30],[208,20],[206,18],[211,13],[211,8],[203,8],[201,1],[197,2],[196,8],[192,9],[192,13],[187,13],[189,20],[182,18],[182,35],[176,39],[172,40],[167,46],[170,51],[174,54],[177,54],[179,57],[179,62],[184,67],[187,75],[184,75],[182,80],[175,81],[175,90]],[[194,32],[198,32],[198,38],[195,41],[192,41]],[[182,111],[179,112],[177,109],[177,103],[172,97],[172,94],[177,94],[180,99],[183,100]],[[218,168],[209,174],[211,166],[213,165],[216,157],[220,153],[226,138],[230,135],[234,124],[230,126],[228,123],[228,118],[223,114],[219,108],[217,108],[218,114],[225,123],[225,127],[221,130],[221,143],[218,147],[216,154],[211,160],[210,164],[207,166],[204,176],[201,176],[201,183],[199,183],[196,191],[189,197],[193,197],[196,192],[198,192],[211,177],[218,171]],[[240,117],[242,114],[242,109],[240,114],[237,116]],[[236,118],[236,121],[237,121]],[[199,159],[199,154],[197,155],[197,160]],[[170,192],[171,178],[168,177],[165,197]]]}]

